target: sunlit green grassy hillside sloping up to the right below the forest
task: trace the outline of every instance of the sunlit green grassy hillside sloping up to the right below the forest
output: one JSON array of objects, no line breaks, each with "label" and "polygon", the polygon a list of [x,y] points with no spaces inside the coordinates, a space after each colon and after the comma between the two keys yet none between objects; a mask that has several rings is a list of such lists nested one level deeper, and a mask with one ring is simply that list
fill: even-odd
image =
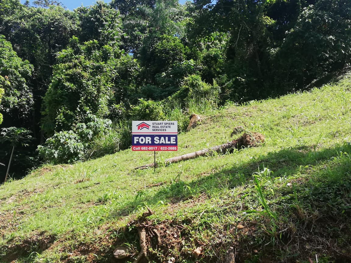
[{"label": "sunlit green grassy hillside sloping up to the right below the forest", "polygon": [[156,158],[225,143],[236,126],[264,134],[257,148],[156,173],[133,169],[152,162],[153,152],[129,149],[3,184],[0,262],[133,262],[112,253],[127,244],[138,254],[138,231],[126,224],[146,207],[154,212],[146,222],[150,261],[226,262],[233,251],[236,262],[351,262],[349,77],[227,105],[180,134],[177,153]]}]

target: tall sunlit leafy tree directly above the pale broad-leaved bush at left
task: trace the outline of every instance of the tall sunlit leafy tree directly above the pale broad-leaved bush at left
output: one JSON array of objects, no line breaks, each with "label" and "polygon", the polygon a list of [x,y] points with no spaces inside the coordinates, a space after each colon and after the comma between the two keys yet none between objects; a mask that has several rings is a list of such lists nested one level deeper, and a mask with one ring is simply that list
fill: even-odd
[{"label": "tall sunlit leafy tree directly above the pale broad-leaved bush at left", "polygon": [[109,114],[120,53],[107,45],[100,47],[96,40],[80,45],[77,38],[71,39],[69,48],[58,54],[59,64],[44,97],[42,128],[47,135],[86,122],[89,113]]}]

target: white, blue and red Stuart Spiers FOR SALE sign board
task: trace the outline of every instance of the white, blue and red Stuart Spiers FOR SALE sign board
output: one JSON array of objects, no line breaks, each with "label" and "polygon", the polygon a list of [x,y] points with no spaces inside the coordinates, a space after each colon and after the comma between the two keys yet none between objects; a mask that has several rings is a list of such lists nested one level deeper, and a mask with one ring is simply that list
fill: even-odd
[{"label": "white, blue and red Stuart Spiers FOR SALE sign board", "polygon": [[177,151],[176,121],[133,121],[132,151]]}]

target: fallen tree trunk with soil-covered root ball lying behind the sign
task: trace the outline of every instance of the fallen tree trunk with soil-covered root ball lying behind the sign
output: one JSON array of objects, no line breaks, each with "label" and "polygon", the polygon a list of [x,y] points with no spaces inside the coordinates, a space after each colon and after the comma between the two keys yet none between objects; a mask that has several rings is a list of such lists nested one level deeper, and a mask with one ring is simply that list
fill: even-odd
[{"label": "fallen tree trunk with soil-covered root ball lying behind the sign", "polygon": [[[212,148],[208,149],[203,149],[199,151],[194,151],[193,153],[188,153],[188,154],[183,154],[180,156],[172,157],[169,159],[165,160],[165,164],[171,164],[171,163],[176,163],[180,161],[186,161],[190,159],[197,158],[199,156],[205,156],[209,155],[211,153],[222,153],[225,154],[226,152],[232,153],[234,149],[242,149],[242,148],[248,148],[248,147],[257,147],[261,143],[264,142],[264,135],[260,133],[253,133],[253,132],[247,132],[241,135],[237,140],[233,140],[231,142],[227,142],[218,146],[214,146]],[[146,169],[149,167],[157,167],[157,164],[155,163],[149,163],[143,166],[139,166],[134,169]]]}]

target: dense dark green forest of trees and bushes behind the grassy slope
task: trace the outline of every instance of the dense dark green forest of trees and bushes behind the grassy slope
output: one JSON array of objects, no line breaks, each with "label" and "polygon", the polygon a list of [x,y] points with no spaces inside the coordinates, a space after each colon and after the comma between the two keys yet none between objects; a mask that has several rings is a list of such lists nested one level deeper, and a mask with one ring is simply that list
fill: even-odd
[{"label": "dense dark green forest of trees and bushes behind the grassy slope", "polygon": [[[351,54],[350,1],[32,5],[0,4],[1,127],[35,139],[15,163],[113,153],[128,147],[132,119],[178,120],[182,130],[192,112],[309,87]],[[106,130],[93,132],[101,120]]]}]

